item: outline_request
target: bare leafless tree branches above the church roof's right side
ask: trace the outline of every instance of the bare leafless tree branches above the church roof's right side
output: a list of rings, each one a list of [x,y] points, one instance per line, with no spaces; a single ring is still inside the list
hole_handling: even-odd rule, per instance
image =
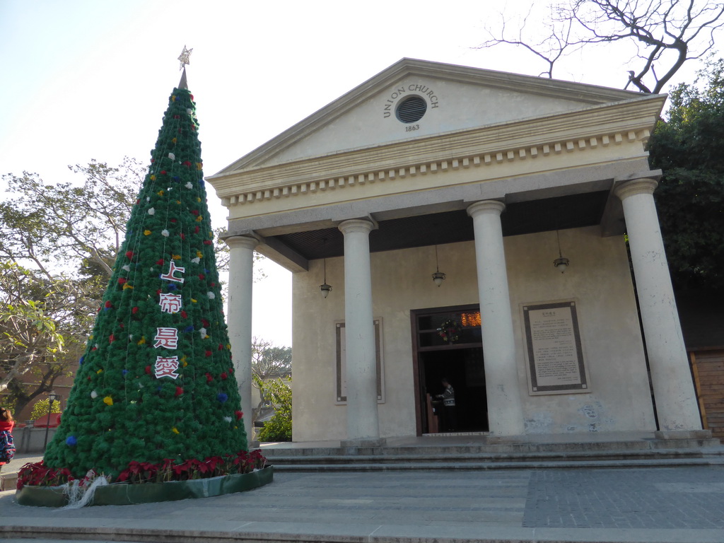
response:
[[[532,9],[532,7],[531,7]],[[724,3],[707,0],[568,0],[552,4],[543,39],[526,30],[529,11],[519,24],[502,17],[500,30],[476,49],[501,44],[530,51],[547,64],[552,77],[557,62],[588,46],[630,43],[636,54],[626,87],[660,93],[686,61],[702,58],[715,46],[715,31],[724,25]],[[510,26],[518,27],[511,35]],[[657,75],[656,67],[664,67]],[[646,81],[644,81],[646,80]]]

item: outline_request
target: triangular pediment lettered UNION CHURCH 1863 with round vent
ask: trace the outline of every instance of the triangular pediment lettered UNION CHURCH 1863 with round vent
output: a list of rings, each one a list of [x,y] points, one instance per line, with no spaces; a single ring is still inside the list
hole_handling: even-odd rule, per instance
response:
[[[542,119],[644,96],[595,85],[402,59],[219,174]],[[400,119],[399,109],[405,108],[405,101],[409,101],[409,117]],[[423,109],[419,119],[410,120]]]

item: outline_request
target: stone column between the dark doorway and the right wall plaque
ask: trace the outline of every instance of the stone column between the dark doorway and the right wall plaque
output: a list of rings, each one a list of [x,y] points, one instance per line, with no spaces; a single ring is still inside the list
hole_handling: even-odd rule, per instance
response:
[[[504,203],[487,200],[473,203],[468,215],[473,218],[475,232],[490,432],[515,436],[525,433],[525,425],[500,224],[504,209]]]

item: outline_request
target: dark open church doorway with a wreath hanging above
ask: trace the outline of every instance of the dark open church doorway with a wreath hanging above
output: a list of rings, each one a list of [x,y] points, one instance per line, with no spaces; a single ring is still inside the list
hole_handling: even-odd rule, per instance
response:
[[[435,396],[445,378],[455,390],[455,432],[486,432],[487,395],[479,306],[418,309],[413,320],[418,435],[449,430]]]

